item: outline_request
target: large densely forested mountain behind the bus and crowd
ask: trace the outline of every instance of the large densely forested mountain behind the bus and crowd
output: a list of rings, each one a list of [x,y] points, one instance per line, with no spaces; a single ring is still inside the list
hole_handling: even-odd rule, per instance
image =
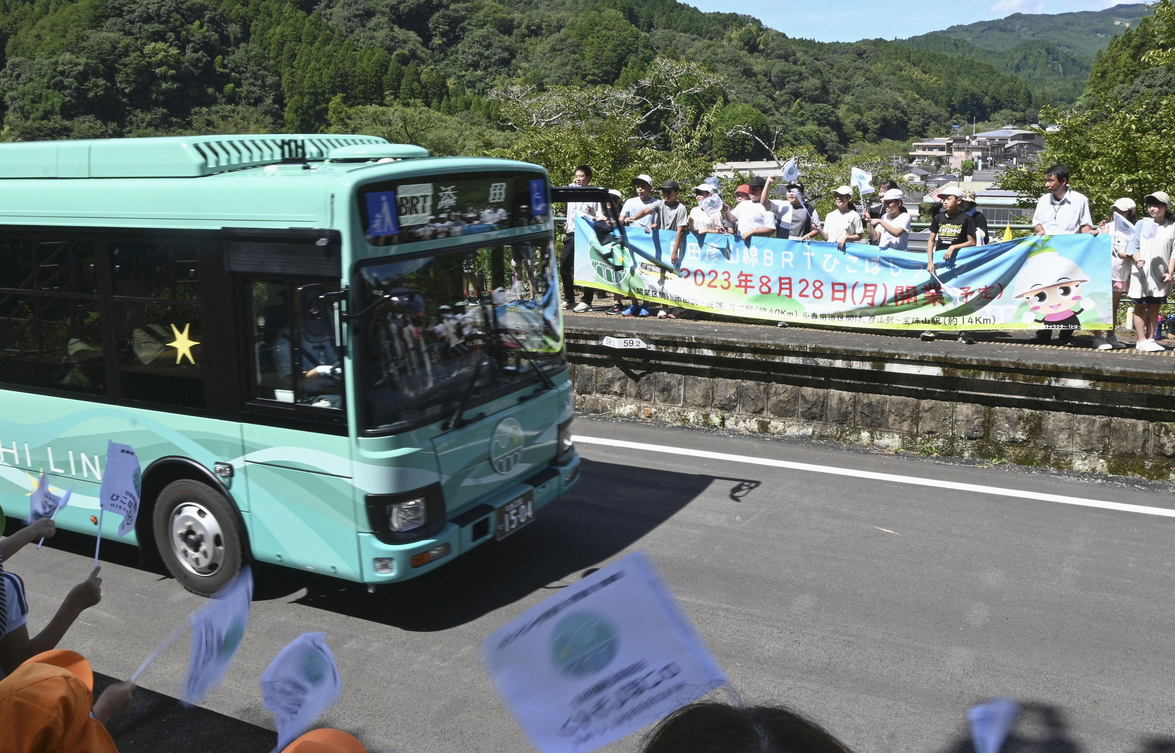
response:
[[[674,0],[0,0],[0,42],[7,140],[317,132],[387,106],[370,115],[408,139],[443,121],[452,149],[490,148],[510,137],[501,87],[612,98],[658,59],[721,76],[691,95],[699,113],[720,105],[716,123],[826,155],[1036,108],[986,63],[793,40]],[[764,150],[727,132],[713,156]]]

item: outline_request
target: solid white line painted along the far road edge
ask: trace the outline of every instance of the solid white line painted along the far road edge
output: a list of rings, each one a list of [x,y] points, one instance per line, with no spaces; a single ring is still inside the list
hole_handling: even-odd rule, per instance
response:
[[[726,452],[710,452],[709,450],[691,450],[690,448],[671,448],[662,444],[645,444],[644,442],[625,442],[623,439],[604,439],[602,437],[585,437],[575,435],[572,442],[580,444],[602,444],[610,448],[625,448],[629,450],[645,450],[647,452],[665,452],[667,455],[686,455],[690,457],[704,457],[712,460],[730,460],[732,463],[751,463],[752,465],[771,465],[772,468],[787,468],[794,471],[812,471],[813,473],[832,473],[833,476],[852,476],[854,478],[872,478],[880,482],[894,482],[895,484],[914,484],[916,486],[933,486],[934,489],[955,489],[958,491],[976,491],[981,495],[1000,495],[1001,497],[1019,497],[1021,499],[1040,499],[1042,502],[1058,502],[1062,505],[1080,505],[1082,507],[1101,507],[1102,510],[1120,510],[1122,512],[1140,512],[1142,515],[1157,515],[1167,518],[1175,518],[1175,510],[1167,507],[1149,507],[1147,505],[1128,505],[1121,502],[1102,502],[1101,499],[1085,499],[1082,497],[1066,497],[1065,495],[1046,495],[1039,491],[1023,491],[1020,489],[1002,489],[1000,486],[983,486],[982,484],[962,484],[959,482],[939,480],[936,478],[919,478],[918,476],[899,476],[898,473],[875,473],[873,471],[859,471],[852,468],[837,468],[834,465],[814,465],[812,463],[793,463],[791,460],[776,460],[773,458],[751,457],[748,455],[730,455]]]

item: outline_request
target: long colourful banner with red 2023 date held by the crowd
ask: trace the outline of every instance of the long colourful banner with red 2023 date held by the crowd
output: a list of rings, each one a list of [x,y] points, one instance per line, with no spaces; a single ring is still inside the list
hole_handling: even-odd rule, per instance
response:
[[[965,248],[951,261],[867,243],[805,242],[576,221],[577,285],[726,316],[872,329],[1112,329],[1109,235],[1053,235]]]

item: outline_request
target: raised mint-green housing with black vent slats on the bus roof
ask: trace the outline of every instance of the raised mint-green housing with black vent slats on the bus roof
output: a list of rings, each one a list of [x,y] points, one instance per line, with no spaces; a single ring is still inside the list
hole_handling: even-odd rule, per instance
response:
[[[295,157],[325,160],[342,147],[387,144],[378,136],[257,134],[163,136],[0,144],[4,177],[200,177]],[[416,148],[416,147],[402,147]]]

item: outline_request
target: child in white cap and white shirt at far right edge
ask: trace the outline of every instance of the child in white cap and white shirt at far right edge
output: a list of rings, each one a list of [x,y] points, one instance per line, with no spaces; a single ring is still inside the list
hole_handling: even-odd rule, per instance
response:
[[[1167,209],[1170,196],[1156,190],[1143,201],[1149,217],[1139,220],[1130,240],[1130,302],[1134,304],[1134,331],[1139,335],[1135,350],[1167,350],[1155,342],[1159,309],[1171,293],[1171,249],[1175,246],[1175,222]]]

